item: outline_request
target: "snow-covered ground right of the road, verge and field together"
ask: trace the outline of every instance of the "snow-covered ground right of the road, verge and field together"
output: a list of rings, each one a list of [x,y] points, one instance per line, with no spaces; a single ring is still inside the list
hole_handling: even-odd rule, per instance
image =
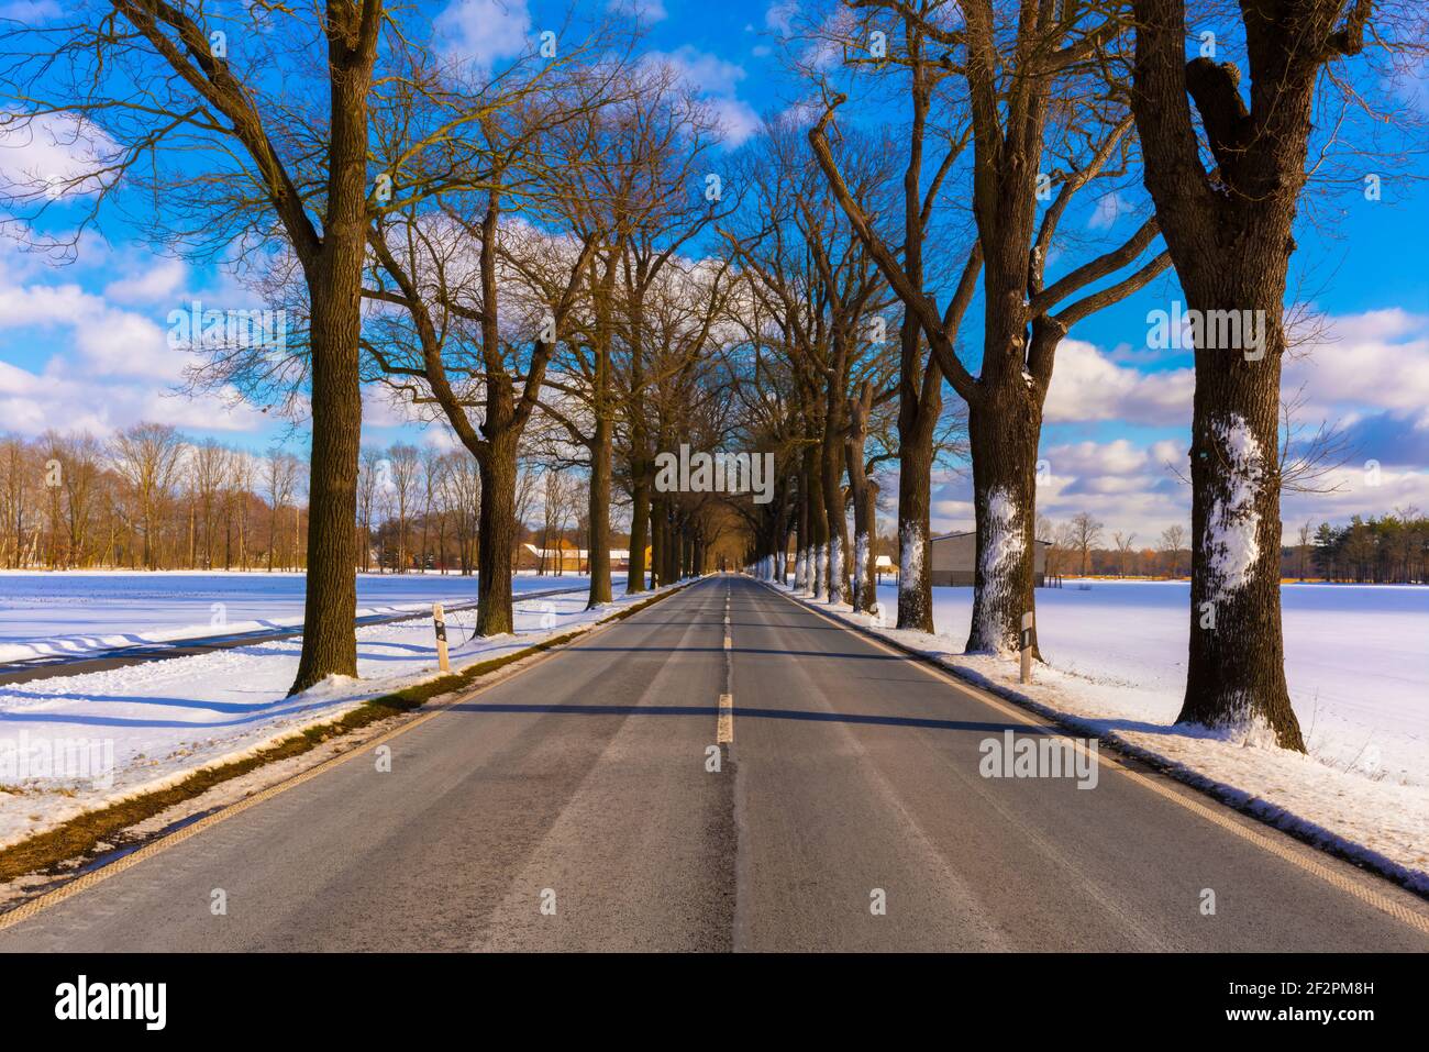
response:
[[[1049,666],[1029,686],[1015,658],[963,655],[970,587],[935,587],[937,635],[877,629],[963,675],[1180,765],[1259,813],[1429,890],[1429,587],[1286,585],[1285,668],[1309,756],[1175,726],[1189,640],[1186,582],[1037,589]],[[879,589],[895,609],[895,586]],[[826,607],[830,609],[830,607]],[[866,616],[832,607],[873,627]]]

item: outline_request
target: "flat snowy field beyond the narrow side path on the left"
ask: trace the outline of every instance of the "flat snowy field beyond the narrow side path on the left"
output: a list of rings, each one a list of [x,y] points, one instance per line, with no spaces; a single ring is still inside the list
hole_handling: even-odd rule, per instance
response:
[[[0,572],[0,662],[302,625],[304,580],[302,573]],[[512,590],[587,583],[570,573],[522,573]],[[474,599],[476,577],[357,575],[357,616]]]

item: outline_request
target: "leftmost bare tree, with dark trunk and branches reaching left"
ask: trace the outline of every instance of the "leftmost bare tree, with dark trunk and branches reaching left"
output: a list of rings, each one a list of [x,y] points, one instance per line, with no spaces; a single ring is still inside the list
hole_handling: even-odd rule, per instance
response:
[[[267,347],[244,349],[240,366],[220,353],[207,377],[226,384],[246,370],[259,386],[290,372],[294,360],[306,372],[310,565],[293,692],[357,672],[353,542],[369,110],[379,41],[392,26],[383,0],[237,10],[214,0],[111,0],[0,34],[6,124],[34,133],[64,114],[96,130],[87,170],[59,186],[37,180],[23,202],[43,210],[56,193],[97,190],[97,210],[116,187],[140,186],[161,197],[151,227],[177,250],[213,256],[236,243],[249,254],[277,234],[296,262],[306,292],[304,353],[277,367]],[[307,54],[314,37],[319,63]],[[293,41],[286,53],[283,40]],[[383,51],[387,59],[409,54],[400,44],[399,31]],[[316,84],[302,77],[309,69],[320,70]]]

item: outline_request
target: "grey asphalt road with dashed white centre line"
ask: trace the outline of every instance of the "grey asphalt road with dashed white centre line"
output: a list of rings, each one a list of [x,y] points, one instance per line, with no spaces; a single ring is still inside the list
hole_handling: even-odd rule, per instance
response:
[[[716,576],[0,949],[1429,949],[1419,899],[1160,776],[983,778],[1006,729],[1036,730]]]

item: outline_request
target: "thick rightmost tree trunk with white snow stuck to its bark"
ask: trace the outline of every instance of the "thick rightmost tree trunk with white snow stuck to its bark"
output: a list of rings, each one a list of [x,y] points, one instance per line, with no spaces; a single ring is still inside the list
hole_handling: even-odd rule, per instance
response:
[[[1190,653],[1182,720],[1253,730],[1305,750],[1280,635],[1280,364],[1292,227],[1306,179],[1320,67],[1358,54],[1373,4],[1246,7],[1242,71],[1186,61],[1180,0],[1136,0],[1132,106],[1146,189],[1190,310],[1232,312],[1240,340],[1196,346],[1192,405]],[[1250,106],[1246,107],[1249,97]],[[1200,162],[1195,100],[1216,162]],[[1259,342],[1245,326],[1259,326]],[[1222,329],[1222,333],[1235,329]],[[1240,346],[1236,346],[1240,344]]]

